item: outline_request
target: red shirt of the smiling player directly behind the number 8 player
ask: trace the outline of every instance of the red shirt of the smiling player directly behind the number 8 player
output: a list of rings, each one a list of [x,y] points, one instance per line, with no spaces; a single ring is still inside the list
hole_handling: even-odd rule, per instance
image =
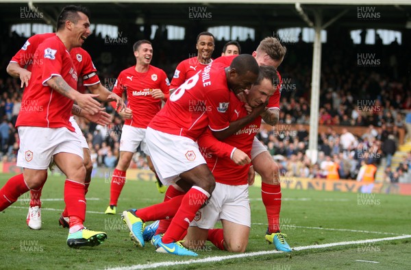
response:
[[[175,69],[173,79],[171,79],[170,89],[177,89],[184,84],[187,79],[204,69],[209,64],[201,64],[197,57],[188,58],[180,62]]]

